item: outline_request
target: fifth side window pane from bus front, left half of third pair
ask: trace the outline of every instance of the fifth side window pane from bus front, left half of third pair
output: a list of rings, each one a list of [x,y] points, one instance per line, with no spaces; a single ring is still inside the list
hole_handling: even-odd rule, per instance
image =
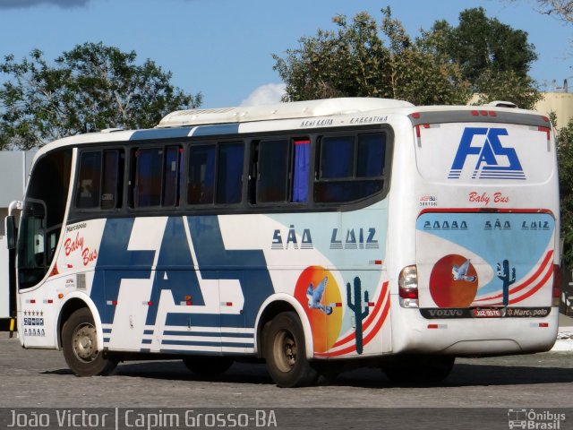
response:
[[[213,203],[215,195],[215,145],[189,147],[187,203]]]

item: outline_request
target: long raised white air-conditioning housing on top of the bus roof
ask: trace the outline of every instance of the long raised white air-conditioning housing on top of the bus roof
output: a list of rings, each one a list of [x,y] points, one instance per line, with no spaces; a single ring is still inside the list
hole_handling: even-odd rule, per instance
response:
[[[216,109],[177,110],[165,116],[156,128],[182,125],[245,123],[272,119],[310,118],[345,115],[376,109],[413,107],[394,99],[340,98],[293,101],[266,106],[222,107]]]

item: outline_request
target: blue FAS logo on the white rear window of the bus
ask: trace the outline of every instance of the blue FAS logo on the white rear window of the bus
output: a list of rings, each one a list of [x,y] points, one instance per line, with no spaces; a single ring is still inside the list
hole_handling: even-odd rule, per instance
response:
[[[472,179],[526,179],[516,150],[501,145],[500,136],[507,135],[505,128],[466,127],[448,178],[459,179],[467,164]]]

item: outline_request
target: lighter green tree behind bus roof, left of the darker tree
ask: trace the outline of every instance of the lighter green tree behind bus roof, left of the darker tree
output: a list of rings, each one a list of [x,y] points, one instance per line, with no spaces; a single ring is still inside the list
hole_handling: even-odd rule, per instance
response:
[[[470,97],[457,64],[423,52],[382,10],[381,39],[378,24],[368,13],[348,23],[333,19],[338,31],[318,30],[300,39],[301,47],[274,55],[288,101],[330,97],[381,97],[406,99],[415,104],[465,103]],[[387,42],[387,43],[385,43]],[[387,46],[388,45],[388,46]]]

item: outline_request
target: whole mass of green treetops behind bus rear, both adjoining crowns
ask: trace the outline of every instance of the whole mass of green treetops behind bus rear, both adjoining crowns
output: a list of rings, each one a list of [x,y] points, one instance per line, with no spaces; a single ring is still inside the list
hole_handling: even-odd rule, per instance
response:
[[[487,18],[482,8],[460,13],[458,27],[435,22],[415,40],[389,8],[381,12],[380,26],[365,12],[352,22],[338,15],[337,30],[318,30],[285,57],[274,55],[285,100],[381,97],[416,105],[466,104],[478,91],[482,102],[507,99],[533,107],[539,98],[527,76],[536,55],[526,32]]]

